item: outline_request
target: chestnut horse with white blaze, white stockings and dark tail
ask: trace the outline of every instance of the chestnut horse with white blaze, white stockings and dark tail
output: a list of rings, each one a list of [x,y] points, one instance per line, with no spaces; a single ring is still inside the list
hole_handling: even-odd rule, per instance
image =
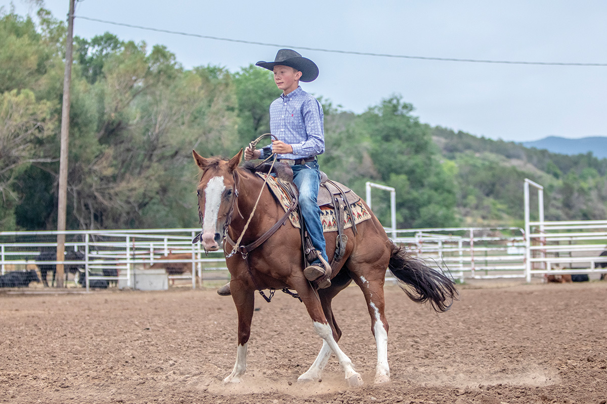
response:
[[[263,179],[251,168],[239,167],[242,150],[229,161],[217,157],[205,159],[192,151],[198,167],[203,170],[197,187],[198,214],[202,222],[201,242],[208,251],[217,251],[225,238],[239,239],[243,230],[242,245],[259,239],[285,214],[283,208],[265,187]],[[257,198],[259,208],[254,211]],[[368,210],[368,206],[365,205]],[[370,210],[369,210],[370,212]],[[247,221],[250,223],[245,228]],[[356,235],[351,228],[345,256],[334,268],[331,286],[316,291],[304,277],[304,257],[300,230],[287,220],[284,225],[246,256],[229,254],[232,246],[223,244],[226,265],[231,274],[230,290],[238,313],[238,349],[234,370],[224,382],[237,383],[246,370],[246,348],[251,333],[256,291],[288,288],[295,290],[312,319],[314,330],[322,338],[322,348],[307,372],[299,376],[299,382],[319,380],[331,353],[334,353],[345,373],[347,383],[362,385],[351,360],[339,348],[337,341],[341,330],[333,316],[331,300],[354,281],[367,300],[371,316],[371,332],[377,345],[375,383],[388,382],[387,337],[388,322],[384,314],[384,278],[387,268],[402,283],[415,302],[432,303],[436,311],[449,309],[457,291],[447,276],[427,267],[421,260],[413,259],[388,239],[379,220],[371,213],[371,219],[356,225]],[[337,233],[325,233],[327,254],[333,256]]]

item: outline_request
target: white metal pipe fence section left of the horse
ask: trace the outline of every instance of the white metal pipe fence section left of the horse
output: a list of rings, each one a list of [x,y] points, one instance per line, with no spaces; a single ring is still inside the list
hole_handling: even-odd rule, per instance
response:
[[[226,270],[223,253],[206,256],[200,243],[192,244],[197,229],[65,231],[66,251],[79,251],[81,260],[64,260],[86,271],[87,290],[91,280],[115,280],[132,287],[131,272],[154,263],[190,263],[189,273],[170,275],[169,279],[191,279],[195,288],[197,274],[203,270]],[[56,251],[56,231],[0,232],[0,268],[22,270],[32,265],[56,265],[56,260],[41,260],[43,251]],[[187,259],[163,259],[172,254],[189,254]],[[38,258],[38,259],[37,259]]]

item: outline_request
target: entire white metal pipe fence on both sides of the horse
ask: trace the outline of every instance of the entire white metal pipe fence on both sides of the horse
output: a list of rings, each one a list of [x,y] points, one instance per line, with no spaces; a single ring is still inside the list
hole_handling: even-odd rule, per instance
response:
[[[387,229],[393,240],[407,246],[414,256],[430,266],[466,279],[524,278],[562,273],[606,273],[599,268],[599,254],[607,247],[607,220],[592,222],[530,222],[529,239],[517,227]],[[81,260],[64,260],[80,266],[90,280],[118,280],[132,287],[131,272],[152,265],[175,267],[183,273],[169,279],[191,280],[220,271],[213,279],[228,279],[223,252],[206,256],[200,243],[191,240],[198,229],[66,231],[66,251],[83,254]],[[1,272],[23,270],[33,264],[55,265],[56,260],[40,259],[42,251],[55,251],[56,231],[0,232]],[[527,247],[528,245],[528,247]],[[179,258],[168,254],[188,254]],[[527,259],[529,254],[529,259]],[[115,271],[115,276],[108,275]],[[209,278],[209,276],[206,276]]]

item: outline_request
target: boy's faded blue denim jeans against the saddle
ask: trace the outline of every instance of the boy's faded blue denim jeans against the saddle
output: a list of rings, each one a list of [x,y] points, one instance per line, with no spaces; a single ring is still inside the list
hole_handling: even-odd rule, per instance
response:
[[[325,237],[322,235],[322,224],[320,223],[320,208],[316,204],[318,189],[320,187],[320,171],[318,162],[313,161],[306,164],[296,164],[293,168],[293,182],[299,189],[299,209],[302,213],[305,228],[312,240],[312,245],[320,252],[322,257],[327,258]],[[314,263],[319,263],[317,259]]]

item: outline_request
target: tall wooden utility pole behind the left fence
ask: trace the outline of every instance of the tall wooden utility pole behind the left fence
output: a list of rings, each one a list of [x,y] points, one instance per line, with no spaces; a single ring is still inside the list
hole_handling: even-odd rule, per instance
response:
[[[63,107],[61,108],[61,152],[59,154],[59,207],[57,211],[57,287],[63,288],[63,258],[66,251],[67,157],[70,130],[70,83],[72,82],[72,45],[74,29],[74,1],[70,1],[67,15],[66,70],[63,75]]]

